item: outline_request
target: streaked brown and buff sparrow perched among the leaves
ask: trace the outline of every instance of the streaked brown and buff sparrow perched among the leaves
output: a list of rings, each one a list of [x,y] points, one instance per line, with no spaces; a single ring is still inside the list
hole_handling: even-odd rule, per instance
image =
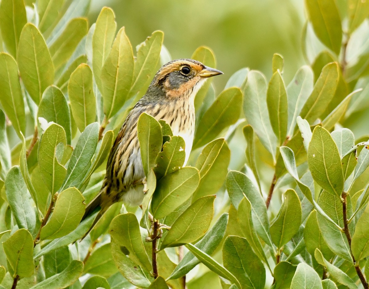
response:
[[[223,72],[186,58],[170,61],[159,69],[145,95],[128,113],[111,148],[101,189],[86,206],[82,218],[83,221],[100,209],[90,229],[115,202],[123,201],[130,205],[142,203],[146,179],[137,136],[137,122],[141,113],[147,113],[156,120],[165,120],[173,135],[183,137],[185,166],[194,137],[196,93],[209,77],[219,74]]]

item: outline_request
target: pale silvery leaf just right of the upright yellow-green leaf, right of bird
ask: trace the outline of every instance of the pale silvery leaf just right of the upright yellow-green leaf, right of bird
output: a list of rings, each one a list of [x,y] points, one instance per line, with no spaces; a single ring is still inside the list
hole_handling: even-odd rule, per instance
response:
[[[293,135],[296,126],[296,118],[300,115],[301,109],[313,91],[313,71],[307,65],[301,67],[294,78],[287,85],[288,102],[288,134]]]

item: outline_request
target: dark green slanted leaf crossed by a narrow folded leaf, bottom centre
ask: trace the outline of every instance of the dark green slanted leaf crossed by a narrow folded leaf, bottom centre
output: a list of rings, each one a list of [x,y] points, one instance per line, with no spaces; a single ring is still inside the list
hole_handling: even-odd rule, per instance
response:
[[[194,246],[208,255],[213,254],[224,237],[227,224],[228,214],[224,213],[213,225],[213,228],[211,228],[199,242],[194,244]],[[199,259],[197,259],[191,252],[187,252],[183,259],[178,263],[174,271],[170,274],[168,279],[177,279],[186,275],[199,263]]]

